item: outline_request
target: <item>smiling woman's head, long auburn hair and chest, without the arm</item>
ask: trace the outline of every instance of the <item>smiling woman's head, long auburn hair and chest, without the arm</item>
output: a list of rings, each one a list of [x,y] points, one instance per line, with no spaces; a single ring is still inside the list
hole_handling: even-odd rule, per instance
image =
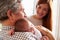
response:
[[[36,5],[36,14],[28,18],[35,26],[42,25],[52,31],[51,8],[47,0],[40,0]]]

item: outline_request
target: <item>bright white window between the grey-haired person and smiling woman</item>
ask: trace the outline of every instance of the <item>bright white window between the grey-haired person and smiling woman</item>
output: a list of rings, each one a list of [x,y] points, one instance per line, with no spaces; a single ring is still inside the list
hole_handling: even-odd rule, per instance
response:
[[[27,16],[31,16],[34,11],[34,2],[35,0],[22,0],[24,11]]]

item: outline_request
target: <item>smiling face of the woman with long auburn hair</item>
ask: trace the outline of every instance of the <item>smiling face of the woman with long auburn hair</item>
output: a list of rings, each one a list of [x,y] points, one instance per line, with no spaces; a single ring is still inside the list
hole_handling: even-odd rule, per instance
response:
[[[48,12],[48,4],[37,5],[37,17],[42,19]]]

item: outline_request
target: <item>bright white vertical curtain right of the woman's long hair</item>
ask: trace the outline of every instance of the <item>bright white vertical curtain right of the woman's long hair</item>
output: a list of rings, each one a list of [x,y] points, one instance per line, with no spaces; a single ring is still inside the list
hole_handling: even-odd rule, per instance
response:
[[[59,40],[59,3],[58,0],[53,0],[52,5],[52,26],[53,26],[53,35],[55,36],[55,40]]]

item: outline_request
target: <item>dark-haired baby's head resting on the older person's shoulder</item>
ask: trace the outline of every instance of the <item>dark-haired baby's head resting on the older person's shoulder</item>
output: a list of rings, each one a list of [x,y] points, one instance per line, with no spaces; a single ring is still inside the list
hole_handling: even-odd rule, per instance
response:
[[[19,19],[15,23],[16,32],[30,32],[31,27],[26,19]]]

